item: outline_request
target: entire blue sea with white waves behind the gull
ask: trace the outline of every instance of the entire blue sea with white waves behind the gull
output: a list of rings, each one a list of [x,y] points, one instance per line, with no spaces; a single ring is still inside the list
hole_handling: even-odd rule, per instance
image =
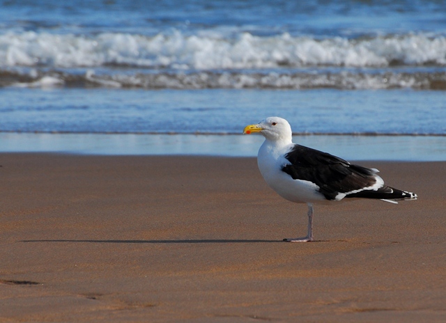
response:
[[[445,13],[434,0],[0,0],[0,151],[255,155],[238,134],[276,115],[354,159],[446,160]]]

